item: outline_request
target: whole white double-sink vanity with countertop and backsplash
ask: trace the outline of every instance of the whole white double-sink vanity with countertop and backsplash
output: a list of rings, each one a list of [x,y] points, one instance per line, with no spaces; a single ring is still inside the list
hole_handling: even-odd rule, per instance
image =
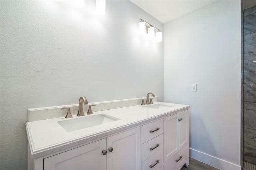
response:
[[[180,170],[188,166],[188,105],[145,98],[28,110],[29,170]],[[70,118],[66,110],[70,108]],[[89,109],[91,111],[89,112]],[[86,113],[86,112],[84,112]],[[93,113],[93,114],[92,114]]]

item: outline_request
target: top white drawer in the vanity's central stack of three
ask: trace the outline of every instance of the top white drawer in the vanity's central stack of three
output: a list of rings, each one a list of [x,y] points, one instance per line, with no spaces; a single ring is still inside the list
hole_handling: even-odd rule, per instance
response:
[[[162,134],[164,132],[163,119],[142,126],[142,143]]]

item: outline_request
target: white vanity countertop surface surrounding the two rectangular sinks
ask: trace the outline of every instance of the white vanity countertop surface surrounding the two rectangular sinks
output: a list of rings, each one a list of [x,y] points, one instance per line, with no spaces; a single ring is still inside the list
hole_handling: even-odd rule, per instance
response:
[[[106,123],[103,125],[75,130],[72,132],[67,132],[57,122],[69,119],[80,119],[81,117],[73,115],[73,118],[69,119],[61,117],[42,121],[28,122],[26,123],[26,128],[32,158],[37,158],[39,156],[44,156],[46,154],[57,152],[64,148],[74,146],[74,142],[81,141],[82,139],[88,139],[93,136],[95,138],[95,136],[98,134],[103,134],[105,132],[110,132],[111,130],[134,125],[136,123],[141,123],[146,120],[150,121],[149,119],[152,119],[154,117],[165,115],[166,113],[176,113],[179,110],[185,110],[189,108],[188,105],[162,102],[156,102],[153,105],[156,104],[170,105],[172,107],[152,109],[145,107],[148,105],[135,105],[118,109],[98,111],[95,112],[93,115],[105,114],[116,117],[120,120]],[[85,116],[82,117],[89,117],[93,115],[85,114]]]

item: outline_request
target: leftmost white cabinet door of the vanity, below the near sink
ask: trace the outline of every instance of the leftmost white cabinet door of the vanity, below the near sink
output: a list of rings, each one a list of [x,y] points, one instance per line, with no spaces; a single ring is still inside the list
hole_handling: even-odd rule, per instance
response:
[[[106,170],[106,138],[44,159],[44,170]]]

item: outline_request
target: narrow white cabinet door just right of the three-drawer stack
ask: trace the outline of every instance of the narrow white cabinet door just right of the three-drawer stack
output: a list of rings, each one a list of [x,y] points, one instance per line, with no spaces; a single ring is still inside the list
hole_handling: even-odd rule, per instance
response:
[[[164,118],[164,161],[168,160],[179,151],[179,114]]]

